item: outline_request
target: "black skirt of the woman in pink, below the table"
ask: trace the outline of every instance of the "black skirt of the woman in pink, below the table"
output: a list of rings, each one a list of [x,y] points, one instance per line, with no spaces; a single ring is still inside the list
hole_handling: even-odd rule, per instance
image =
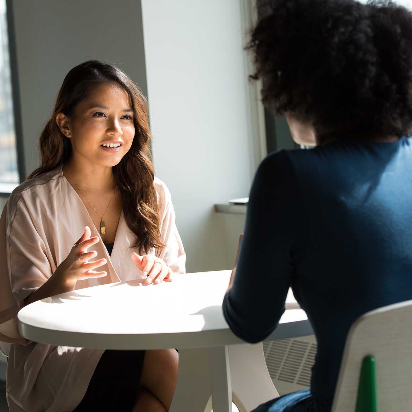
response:
[[[130,412],[136,402],[145,351],[104,351],[73,412]]]

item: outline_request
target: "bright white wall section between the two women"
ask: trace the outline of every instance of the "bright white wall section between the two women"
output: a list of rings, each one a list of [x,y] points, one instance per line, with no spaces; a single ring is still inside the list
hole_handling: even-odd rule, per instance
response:
[[[172,194],[187,271],[228,269],[227,219],[215,203],[247,196],[254,173],[238,0],[142,0],[157,176]]]

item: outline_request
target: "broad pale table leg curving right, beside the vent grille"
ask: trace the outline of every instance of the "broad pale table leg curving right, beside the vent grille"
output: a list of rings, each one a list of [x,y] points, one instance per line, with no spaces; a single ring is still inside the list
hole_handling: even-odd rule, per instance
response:
[[[233,400],[240,412],[279,397],[267,370],[262,343],[230,345],[228,351]]]

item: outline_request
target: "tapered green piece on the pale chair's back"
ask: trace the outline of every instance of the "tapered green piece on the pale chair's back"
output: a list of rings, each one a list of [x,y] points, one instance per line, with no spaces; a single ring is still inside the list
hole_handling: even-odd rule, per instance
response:
[[[356,412],[377,412],[375,358],[365,356],[359,377]]]

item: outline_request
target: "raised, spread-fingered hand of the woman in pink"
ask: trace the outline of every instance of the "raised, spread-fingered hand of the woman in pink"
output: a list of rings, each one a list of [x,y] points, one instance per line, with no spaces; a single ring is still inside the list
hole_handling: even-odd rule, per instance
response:
[[[91,231],[89,226],[84,228],[84,234],[75,243],[67,258],[61,262],[61,276],[68,283],[75,283],[77,280],[102,278],[107,275],[107,272],[95,272],[93,269],[103,266],[107,263],[105,258],[89,262],[97,256],[97,252],[87,249],[97,243],[100,238],[98,236],[90,237]]]

